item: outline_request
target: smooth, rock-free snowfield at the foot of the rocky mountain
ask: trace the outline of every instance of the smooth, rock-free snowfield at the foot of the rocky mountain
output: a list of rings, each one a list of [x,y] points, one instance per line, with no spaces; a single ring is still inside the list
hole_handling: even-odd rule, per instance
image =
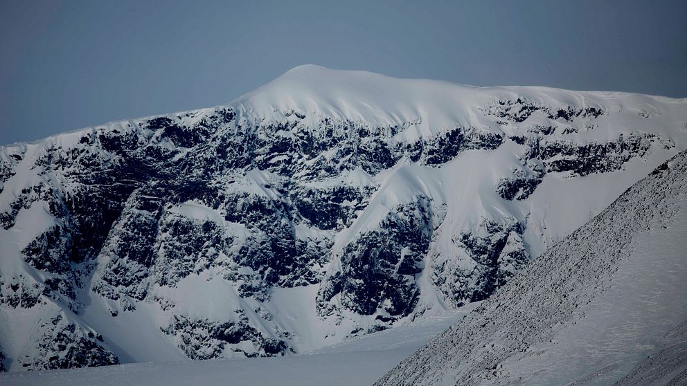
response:
[[[28,371],[0,374],[0,385],[370,385],[463,318],[471,306],[303,355]]]

